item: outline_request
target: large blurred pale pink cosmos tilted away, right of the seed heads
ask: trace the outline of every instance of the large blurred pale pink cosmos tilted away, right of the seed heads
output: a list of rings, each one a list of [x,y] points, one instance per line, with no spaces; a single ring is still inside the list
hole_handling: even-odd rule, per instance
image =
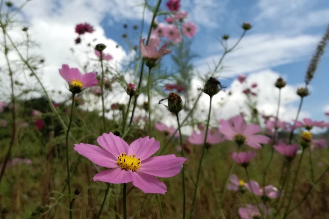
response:
[[[231,119],[232,122],[221,119],[219,121],[221,132],[227,140],[235,141],[238,145],[246,144],[252,148],[259,149],[261,143],[267,143],[268,137],[260,134],[261,129],[256,124],[245,125],[242,116],[236,116]]]

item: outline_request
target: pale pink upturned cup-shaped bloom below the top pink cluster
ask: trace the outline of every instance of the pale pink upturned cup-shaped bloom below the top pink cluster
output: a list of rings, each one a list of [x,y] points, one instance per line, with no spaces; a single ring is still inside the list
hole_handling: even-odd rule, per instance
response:
[[[163,57],[164,55],[171,52],[171,50],[167,49],[168,42],[165,42],[164,45],[158,51],[158,45],[156,39],[150,38],[150,42],[147,46],[144,44],[144,40],[145,39],[140,39],[139,46],[140,46],[140,51],[145,59],[156,61],[161,59],[161,57]]]

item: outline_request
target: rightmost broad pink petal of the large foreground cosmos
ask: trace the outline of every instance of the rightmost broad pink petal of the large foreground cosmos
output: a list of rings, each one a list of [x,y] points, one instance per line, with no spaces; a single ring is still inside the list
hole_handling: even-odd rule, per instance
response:
[[[151,157],[142,161],[139,171],[158,177],[172,177],[181,171],[185,160],[173,154]]]

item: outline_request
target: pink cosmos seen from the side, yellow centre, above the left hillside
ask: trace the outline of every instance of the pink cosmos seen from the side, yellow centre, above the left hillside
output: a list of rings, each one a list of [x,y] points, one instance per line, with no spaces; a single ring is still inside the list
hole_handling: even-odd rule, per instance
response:
[[[70,68],[67,64],[63,64],[59,72],[64,80],[73,87],[86,88],[97,85],[96,74],[93,72],[81,75],[79,69]]]

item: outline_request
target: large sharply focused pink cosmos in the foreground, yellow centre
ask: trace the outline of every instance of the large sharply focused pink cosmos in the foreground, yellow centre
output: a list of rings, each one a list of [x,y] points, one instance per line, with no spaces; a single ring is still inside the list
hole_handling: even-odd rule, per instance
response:
[[[139,138],[130,146],[122,138],[104,133],[97,138],[101,147],[91,144],[75,144],[74,150],[95,164],[107,168],[97,173],[94,181],[109,183],[132,182],[144,193],[166,192],[166,186],[157,177],[172,177],[181,171],[185,158],[175,155],[151,157],[160,148],[160,142]]]

